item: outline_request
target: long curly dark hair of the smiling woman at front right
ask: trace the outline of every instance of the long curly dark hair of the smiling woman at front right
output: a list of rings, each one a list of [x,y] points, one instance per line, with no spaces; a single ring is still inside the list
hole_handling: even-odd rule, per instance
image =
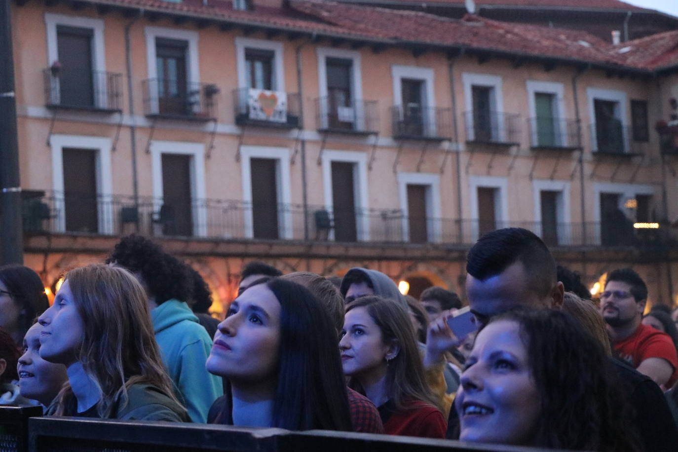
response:
[[[631,411],[602,344],[569,314],[517,308],[490,321],[520,325],[541,399],[535,443],[573,451],[637,452]]]

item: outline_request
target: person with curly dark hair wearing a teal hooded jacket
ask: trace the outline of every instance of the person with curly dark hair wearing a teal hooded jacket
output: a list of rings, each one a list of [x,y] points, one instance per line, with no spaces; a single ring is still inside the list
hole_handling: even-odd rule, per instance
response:
[[[212,338],[183,301],[191,299],[186,264],[136,235],[115,245],[106,262],[127,268],[146,290],[155,340],[175,394],[191,420],[204,424],[212,403],[224,391],[220,377],[205,369]]]

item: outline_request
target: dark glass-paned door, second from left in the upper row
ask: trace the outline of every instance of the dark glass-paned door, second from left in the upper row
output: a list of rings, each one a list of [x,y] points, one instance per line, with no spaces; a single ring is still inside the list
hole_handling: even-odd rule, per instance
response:
[[[187,45],[185,41],[175,39],[157,38],[155,41],[155,62],[158,75],[157,96],[161,115],[188,114]]]

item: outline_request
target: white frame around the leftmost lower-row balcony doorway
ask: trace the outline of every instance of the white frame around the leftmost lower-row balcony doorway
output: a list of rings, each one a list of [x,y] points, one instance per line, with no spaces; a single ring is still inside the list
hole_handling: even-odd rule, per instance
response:
[[[52,148],[52,189],[56,195],[56,230],[66,232],[66,203],[64,194],[64,148],[92,150],[95,157],[97,215],[100,234],[113,234],[113,178],[111,171],[111,138],[60,135],[49,137]],[[104,221],[108,220],[108,222]]]

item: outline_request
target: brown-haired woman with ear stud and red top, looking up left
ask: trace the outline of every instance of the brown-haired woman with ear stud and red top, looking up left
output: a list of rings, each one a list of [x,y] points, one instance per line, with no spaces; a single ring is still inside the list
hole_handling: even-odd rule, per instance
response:
[[[445,437],[447,422],[426,385],[404,308],[376,296],[351,302],[339,348],[348,386],[377,406],[386,434]]]

